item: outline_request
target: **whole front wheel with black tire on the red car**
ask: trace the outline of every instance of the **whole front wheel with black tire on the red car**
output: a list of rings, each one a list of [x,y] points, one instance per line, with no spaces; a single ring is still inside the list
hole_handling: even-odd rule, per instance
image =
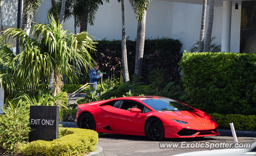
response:
[[[145,135],[150,140],[161,141],[164,139],[164,125],[158,118],[150,118],[145,124]]]

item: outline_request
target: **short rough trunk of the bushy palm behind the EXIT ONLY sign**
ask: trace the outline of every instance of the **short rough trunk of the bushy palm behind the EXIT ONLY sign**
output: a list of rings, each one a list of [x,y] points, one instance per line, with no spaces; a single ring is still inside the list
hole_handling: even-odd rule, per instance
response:
[[[61,81],[62,75],[60,74],[60,69],[54,69],[54,96],[61,92],[63,82]],[[57,100],[57,106],[60,106],[60,100]]]

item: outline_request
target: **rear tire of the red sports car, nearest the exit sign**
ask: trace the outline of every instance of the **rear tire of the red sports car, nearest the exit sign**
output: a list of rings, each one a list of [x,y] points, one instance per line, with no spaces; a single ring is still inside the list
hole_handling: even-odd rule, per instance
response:
[[[90,113],[84,113],[79,117],[78,128],[96,130],[94,117]]]

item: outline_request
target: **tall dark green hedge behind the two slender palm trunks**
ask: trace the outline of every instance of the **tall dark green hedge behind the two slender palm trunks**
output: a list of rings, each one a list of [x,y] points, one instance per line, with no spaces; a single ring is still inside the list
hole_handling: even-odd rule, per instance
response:
[[[97,41],[97,51],[105,51],[102,47],[108,47],[110,51],[115,51],[116,57],[122,58],[122,41],[121,40],[108,40],[102,39]],[[154,71],[157,67],[166,68],[166,74],[170,77],[177,77],[177,72],[175,71],[175,65],[180,61],[180,48],[182,43],[178,39],[171,38],[147,38],[145,39],[144,44],[144,54],[142,61],[142,81],[145,84],[148,84],[148,73],[150,71]],[[130,78],[134,74],[134,65],[135,65],[135,49],[136,49],[136,41],[132,41],[130,39],[126,40],[126,48],[127,48],[127,59],[128,59],[128,70],[130,73]],[[101,60],[96,57],[96,55],[92,55],[95,61],[99,63]],[[178,60],[177,60],[178,59]],[[175,72],[174,72],[175,71]],[[103,71],[106,72],[106,71]],[[170,75],[171,73],[171,75]],[[174,74],[173,74],[174,73]],[[115,73],[117,77],[120,73]],[[179,77],[178,77],[179,78]]]

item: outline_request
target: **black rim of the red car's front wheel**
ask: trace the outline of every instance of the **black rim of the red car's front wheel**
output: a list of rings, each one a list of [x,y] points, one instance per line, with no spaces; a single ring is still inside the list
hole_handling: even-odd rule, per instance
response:
[[[162,125],[158,120],[150,120],[146,127],[148,137],[152,140],[157,140],[162,135]]]

